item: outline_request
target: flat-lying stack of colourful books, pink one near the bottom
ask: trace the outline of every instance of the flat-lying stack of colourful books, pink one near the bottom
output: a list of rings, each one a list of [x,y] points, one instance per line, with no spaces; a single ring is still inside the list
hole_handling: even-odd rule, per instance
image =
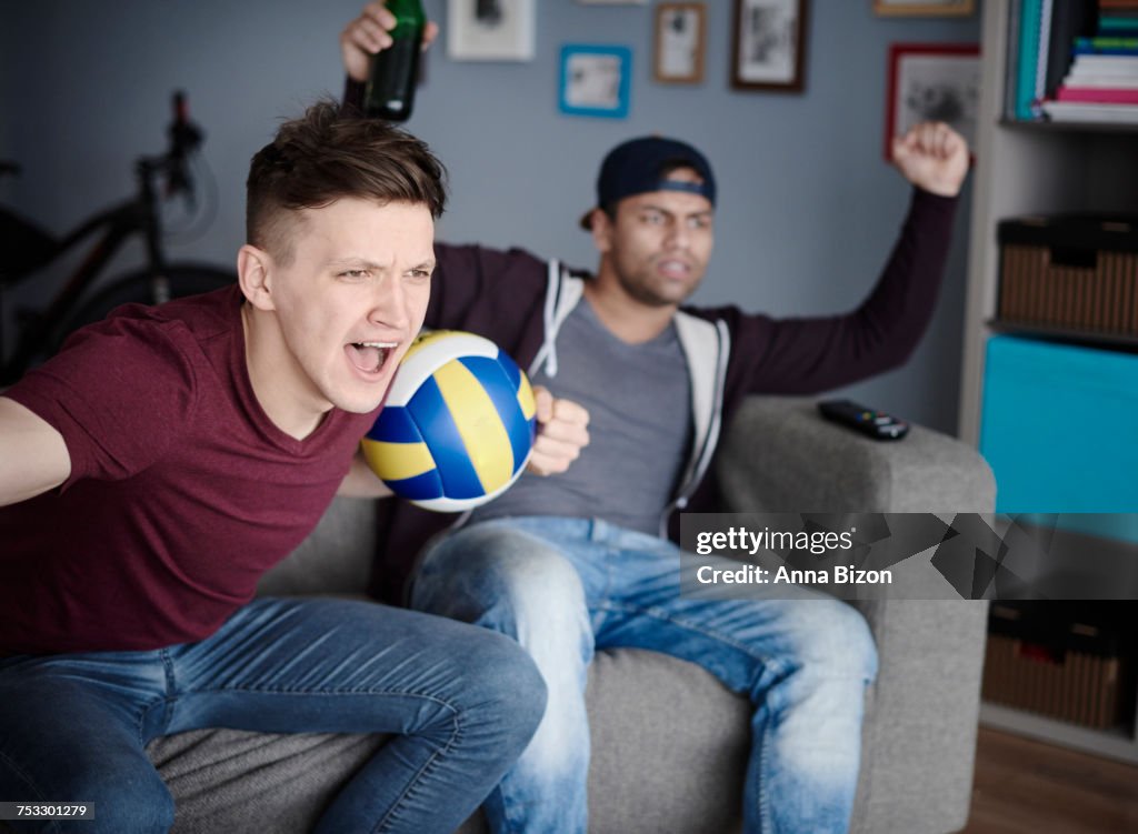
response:
[[[1098,31],[1074,39],[1074,60],[1042,102],[1054,122],[1138,124],[1138,0],[1099,0]]]

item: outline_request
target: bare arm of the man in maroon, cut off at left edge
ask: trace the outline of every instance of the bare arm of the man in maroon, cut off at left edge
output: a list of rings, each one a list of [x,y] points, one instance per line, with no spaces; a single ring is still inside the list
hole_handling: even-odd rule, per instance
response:
[[[71,474],[63,435],[8,397],[0,397],[0,506],[53,489]]]

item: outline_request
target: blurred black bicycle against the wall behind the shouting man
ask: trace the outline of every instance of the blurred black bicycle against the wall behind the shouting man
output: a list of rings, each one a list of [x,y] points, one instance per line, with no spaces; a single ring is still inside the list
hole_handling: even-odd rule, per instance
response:
[[[80,240],[101,231],[86,257],[46,309],[17,312],[14,349],[10,357],[0,357],[0,387],[11,385],[34,363],[55,354],[72,331],[100,321],[119,305],[131,302],[162,304],[171,298],[208,292],[237,280],[231,272],[207,264],[166,262],[159,199],[181,195],[193,201],[195,183],[189,162],[204,138],[201,130],[189,119],[183,93],[174,93],[173,109],[166,152],[142,156],[134,163],[135,195],[96,214],[66,237],[56,238],[0,206],[0,305],[5,290],[31,278]],[[18,172],[19,166],[0,162],[0,174]],[[141,234],[146,243],[146,265],[92,292],[90,288],[107,263],[135,234]],[[3,321],[0,306],[0,327]],[[0,331],[0,350],[3,345]]]

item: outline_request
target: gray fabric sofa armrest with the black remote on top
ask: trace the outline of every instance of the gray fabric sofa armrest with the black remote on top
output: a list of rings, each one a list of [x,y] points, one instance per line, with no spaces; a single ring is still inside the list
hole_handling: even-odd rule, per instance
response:
[[[751,397],[718,473],[732,512],[990,513],[996,484],[964,443],[920,426],[879,441],[820,418],[814,401]],[[852,831],[962,828],[971,802],[988,605],[856,601],[877,645]]]

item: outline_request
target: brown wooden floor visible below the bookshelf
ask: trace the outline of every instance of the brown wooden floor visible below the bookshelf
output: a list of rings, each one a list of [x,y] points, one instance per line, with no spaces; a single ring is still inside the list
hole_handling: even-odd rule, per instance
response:
[[[981,727],[964,832],[1138,832],[1138,766]]]

